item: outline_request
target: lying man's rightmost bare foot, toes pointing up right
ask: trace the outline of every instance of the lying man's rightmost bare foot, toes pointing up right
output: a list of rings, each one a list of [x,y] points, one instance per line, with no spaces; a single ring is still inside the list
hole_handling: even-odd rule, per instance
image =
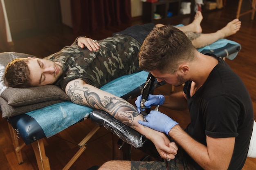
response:
[[[226,38],[230,35],[235,34],[237,31],[239,31],[241,27],[241,21],[239,21],[237,18],[230,21],[225,27],[219,30],[220,33],[222,33],[222,38]]]

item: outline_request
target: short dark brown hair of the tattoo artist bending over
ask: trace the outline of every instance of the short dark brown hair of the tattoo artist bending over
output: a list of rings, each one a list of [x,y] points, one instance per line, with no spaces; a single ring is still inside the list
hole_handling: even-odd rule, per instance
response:
[[[195,58],[195,47],[186,35],[171,25],[155,27],[139,52],[139,66],[145,71],[176,73],[183,62]]]

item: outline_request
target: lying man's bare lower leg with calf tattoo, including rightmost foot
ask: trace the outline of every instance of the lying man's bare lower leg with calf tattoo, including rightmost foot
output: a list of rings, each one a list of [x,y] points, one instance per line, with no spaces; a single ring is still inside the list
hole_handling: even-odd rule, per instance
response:
[[[234,19],[229,22],[225,27],[216,31],[215,33],[199,34],[193,32],[185,32],[185,34],[189,38],[189,40],[191,40],[195,48],[200,49],[204,46],[218,41],[221,38],[226,38],[230,35],[235,34],[237,31],[239,31],[240,27],[241,22],[238,19]]]

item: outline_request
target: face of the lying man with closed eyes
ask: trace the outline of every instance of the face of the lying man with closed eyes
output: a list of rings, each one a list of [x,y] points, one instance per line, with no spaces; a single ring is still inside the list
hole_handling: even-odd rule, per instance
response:
[[[29,58],[28,67],[32,86],[53,84],[62,75],[63,69],[58,62],[51,60]]]

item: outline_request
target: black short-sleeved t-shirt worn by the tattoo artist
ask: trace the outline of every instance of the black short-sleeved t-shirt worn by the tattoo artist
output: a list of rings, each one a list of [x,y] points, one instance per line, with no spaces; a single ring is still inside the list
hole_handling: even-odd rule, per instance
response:
[[[214,56],[216,57],[216,56]],[[254,112],[251,97],[236,73],[220,57],[206,82],[191,97],[191,81],[184,85],[191,123],[186,132],[201,144],[209,137],[236,137],[229,170],[245,163],[252,135]],[[198,170],[202,169],[191,159]]]

